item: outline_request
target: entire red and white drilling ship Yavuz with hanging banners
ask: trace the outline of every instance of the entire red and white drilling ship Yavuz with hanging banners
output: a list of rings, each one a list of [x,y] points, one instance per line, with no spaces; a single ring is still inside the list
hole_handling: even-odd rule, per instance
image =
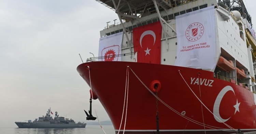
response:
[[[256,43],[243,0],[96,0],[117,13],[77,67],[116,134],[256,131]],[[248,4],[250,4],[247,1]]]

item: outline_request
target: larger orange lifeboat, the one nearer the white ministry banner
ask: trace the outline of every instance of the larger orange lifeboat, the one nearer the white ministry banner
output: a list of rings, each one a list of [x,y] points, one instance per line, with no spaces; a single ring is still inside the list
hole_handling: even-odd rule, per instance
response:
[[[227,72],[235,70],[233,62],[231,60],[226,60],[222,56],[219,56],[217,66]]]

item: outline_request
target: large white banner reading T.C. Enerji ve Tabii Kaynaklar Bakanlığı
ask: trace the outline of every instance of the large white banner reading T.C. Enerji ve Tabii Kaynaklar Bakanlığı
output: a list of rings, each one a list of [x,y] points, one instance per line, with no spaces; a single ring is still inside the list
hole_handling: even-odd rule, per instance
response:
[[[216,66],[214,6],[176,16],[175,66],[213,69]]]

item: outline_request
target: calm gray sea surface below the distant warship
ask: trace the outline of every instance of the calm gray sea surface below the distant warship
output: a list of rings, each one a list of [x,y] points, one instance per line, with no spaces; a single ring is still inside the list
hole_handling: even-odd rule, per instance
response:
[[[115,134],[113,125],[103,125],[106,134]],[[0,134],[104,134],[99,125],[85,128],[17,128],[0,127]]]

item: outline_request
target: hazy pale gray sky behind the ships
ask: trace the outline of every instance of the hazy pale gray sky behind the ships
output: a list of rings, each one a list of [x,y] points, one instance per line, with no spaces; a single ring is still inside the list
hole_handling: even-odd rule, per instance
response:
[[[256,24],[255,1],[248,3]],[[86,121],[89,86],[76,67],[98,55],[114,11],[95,0],[0,0],[0,126],[53,113]],[[98,100],[100,121],[109,120]],[[93,110],[93,115],[95,112]]]

